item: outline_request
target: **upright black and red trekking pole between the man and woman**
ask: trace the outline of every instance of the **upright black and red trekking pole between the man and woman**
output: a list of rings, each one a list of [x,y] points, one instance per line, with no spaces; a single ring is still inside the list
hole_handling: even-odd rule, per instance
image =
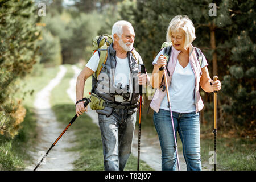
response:
[[[141,64],[141,74],[146,73],[145,64]],[[139,156],[141,153],[141,107],[142,107],[142,85],[139,85],[139,134],[138,134],[138,162],[137,171],[139,171]]]

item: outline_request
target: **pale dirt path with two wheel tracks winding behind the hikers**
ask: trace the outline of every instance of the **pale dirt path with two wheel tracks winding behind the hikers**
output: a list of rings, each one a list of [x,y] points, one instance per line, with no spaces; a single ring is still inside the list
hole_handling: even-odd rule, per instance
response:
[[[75,65],[72,66],[74,71],[73,78],[69,81],[69,88],[67,89],[67,93],[69,98],[76,102],[76,80],[79,75],[81,69],[77,68]],[[32,170],[42,159],[43,153],[46,152],[51,144],[55,141],[57,137],[59,137],[60,133],[63,131],[65,126],[60,126],[60,123],[57,122],[53,111],[51,110],[51,106],[49,104],[49,96],[51,90],[59,84],[61,78],[65,75],[66,68],[64,66],[60,66],[60,72],[49,82],[49,84],[41,90],[35,100],[35,108],[36,114],[38,116],[38,126],[40,128],[40,139],[38,145],[34,148],[34,152],[31,152],[34,158],[34,164],[28,166],[27,170]],[[98,115],[95,110],[90,109],[88,107],[89,117],[92,118],[92,121],[98,125]],[[72,147],[71,144],[72,137],[75,137],[72,131],[68,131],[63,135],[63,137],[59,140],[61,144],[54,147],[54,149],[47,155],[45,159],[45,164],[42,163],[38,170],[72,170],[72,162],[78,157],[78,155],[74,155],[73,153],[65,152],[65,148]],[[133,155],[137,156],[137,148],[138,148],[138,131],[135,130],[134,140],[133,140]],[[158,137],[148,137],[146,133],[142,132],[141,135],[141,160],[146,162],[152,169],[156,171],[161,170],[161,151]],[[187,170],[185,160],[183,158],[182,151],[179,151],[179,159],[180,159],[180,168],[182,171]],[[209,170],[210,166],[206,168]]]

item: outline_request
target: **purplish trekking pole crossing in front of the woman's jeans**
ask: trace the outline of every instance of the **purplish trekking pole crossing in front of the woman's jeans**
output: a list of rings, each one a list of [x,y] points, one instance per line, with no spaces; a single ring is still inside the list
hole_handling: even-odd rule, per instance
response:
[[[168,83],[167,83],[167,76],[166,76],[166,67],[163,66],[161,68],[164,72],[164,84],[166,85],[166,94],[167,94],[167,100],[168,100],[168,107],[170,110],[170,114],[171,114],[171,120],[172,120],[172,133],[174,133],[174,148],[175,148],[175,152],[176,152],[176,156],[177,156],[177,167],[180,171],[180,162],[179,162],[179,154],[177,151],[177,141],[176,141],[176,136],[175,136],[175,129],[174,129],[174,119],[172,118],[172,109],[171,109],[171,101],[170,101],[170,96],[169,96],[169,90],[168,90]]]

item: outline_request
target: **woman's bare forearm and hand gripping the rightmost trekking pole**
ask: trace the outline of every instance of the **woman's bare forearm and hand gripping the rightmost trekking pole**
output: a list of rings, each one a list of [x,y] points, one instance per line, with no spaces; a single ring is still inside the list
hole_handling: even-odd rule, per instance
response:
[[[200,79],[201,88],[205,92],[219,91],[221,89],[220,80],[213,81],[212,78],[210,78],[207,67],[204,67],[201,70],[202,70],[202,75]],[[212,83],[212,85],[210,85],[210,83]]]

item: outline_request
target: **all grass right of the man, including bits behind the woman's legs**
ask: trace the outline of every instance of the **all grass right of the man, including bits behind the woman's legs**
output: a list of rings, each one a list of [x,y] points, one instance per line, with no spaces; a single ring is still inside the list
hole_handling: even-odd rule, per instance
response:
[[[157,137],[152,119],[152,109],[147,114],[148,103],[142,113],[142,127],[148,133],[148,137]],[[208,168],[213,164],[210,151],[214,151],[213,126],[201,124],[201,162],[202,167]],[[178,135],[179,136],[179,135]],[[177,137],[179,153],[182,154],[182,143]],[[256,143],[253,138],[241,138],[238,135],[227,134],[227,131],[218,129],[217,131],[217,170],[225,171],[255,171],[256,170]]]

